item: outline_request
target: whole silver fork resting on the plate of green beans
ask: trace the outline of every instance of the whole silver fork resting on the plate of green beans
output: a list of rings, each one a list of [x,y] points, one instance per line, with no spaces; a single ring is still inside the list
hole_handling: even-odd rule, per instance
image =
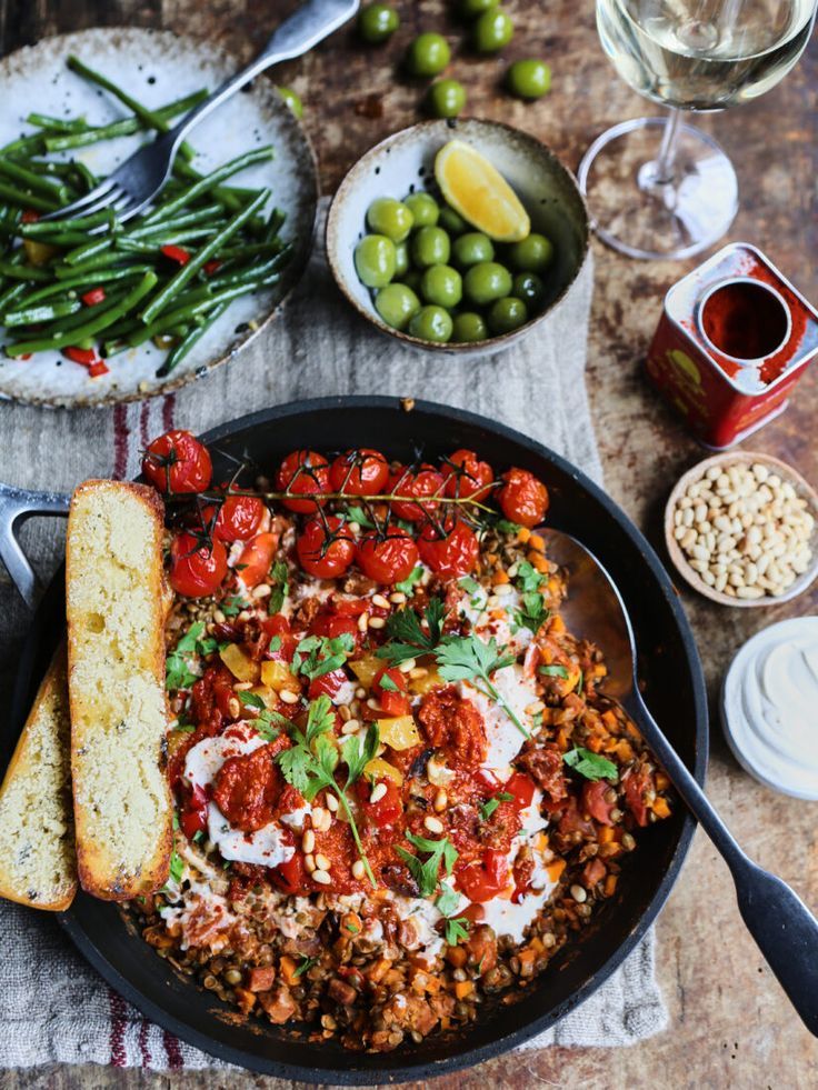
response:
[[[194,124],[272,64],[309,52],[342,27],[359,3],[360,0],[308,0],[281,23],[255,61],[222,83],[174,128],[140,148],[84,197],[41,217],[41,221],[91,216],[103,208],[111,208],[120,222],[137,216],[168,180],[179,146]]]

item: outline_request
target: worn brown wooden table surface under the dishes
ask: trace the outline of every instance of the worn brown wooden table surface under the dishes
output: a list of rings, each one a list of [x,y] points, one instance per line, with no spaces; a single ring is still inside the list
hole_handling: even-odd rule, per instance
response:
[[[243,60],[258,50],[292,0],[0,0],[0,53],[46,34],[94,24],[166,27],[203,36]],[[533,132],[576,169],[609,124],[655,112],[606,61],[592,0],[509,0],[516,37],[501,59],[478,60],[460,47],[462,28],[443,0],[396,0],[402,27],[387,47],[368,49],[342,31],[277,81],[305,101],[305,122],[321,160],[325,191],[372,143],[418,117],[420,90],[397,73],[406,42],[421,30],[446,32],[451,73],[467,86],[469,113]],[[553,90],[539,103],[509,99],[500,77],[509,58],[542,54]],[[777,89],[740,110],[699,119],[736,164],[741,211],[731,239],[760,246],[801,291],[818,299],[818,44]],[[588,389],[607,488],[660,553],[661,511],[679,474],[705,452],[660,403],[642,377],[642,359],[664,292],[695,262],[634,262],[595,243],[597,287],[590,327]],[[777,454],[818,483],[818,367],[801,381],[789,410],[745,444]],[[730,757],[718,722],[719,681],[738,647],[760,628],[818,612],[818,588],[771,609],[708,603],[681,589],[711,698],[709,793],[749,852],[818,908],[815,803],[758,786]],[[684,873],[658,922],[658,972],[670,1029],[634,1049],[549,1049],[496,1060],[435,1082],[436,1090],[491,1084],[585,1088],[669,1087],[738,1090],[818,1086],[818,1046],[789,1008],[736,910],[725,864],[697,833]],[[169,1084],[167,1076],[101,1068],[52,1068],[8,1074],[14,1088],[110,1088]],[[172,1084],[205,1088],[223,1078],[184,1073]],[[273,1079],[230,1076],[236,1090],[283,1087]]]

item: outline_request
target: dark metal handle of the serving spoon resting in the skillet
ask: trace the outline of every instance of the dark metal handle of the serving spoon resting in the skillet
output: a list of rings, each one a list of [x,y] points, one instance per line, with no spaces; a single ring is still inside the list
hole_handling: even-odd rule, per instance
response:
[[[804,1024],[818,1037],[818,920],[780,878],[748,859],[638,692],[624,701],[690,811],[732,873],[739,911]]]

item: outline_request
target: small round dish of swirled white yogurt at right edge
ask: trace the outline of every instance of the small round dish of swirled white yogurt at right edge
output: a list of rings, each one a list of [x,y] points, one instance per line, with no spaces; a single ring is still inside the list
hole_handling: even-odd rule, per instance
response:
[[[725,679],[722,712],[748,771],[818,800],[818,617],[781,621],[748,640]]]

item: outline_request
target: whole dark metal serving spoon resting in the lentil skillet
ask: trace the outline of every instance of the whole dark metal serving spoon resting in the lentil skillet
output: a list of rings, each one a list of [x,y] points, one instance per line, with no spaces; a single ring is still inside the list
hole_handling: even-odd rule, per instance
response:
[[[546,528],[549,560],[569,572],[560,611],[569,631],[605,653],[603,692],[619,701],[674,787],[714,842],[736,882],[738,907],[750,934],[807,1029],[818,1037],[818,920],[780,878],[749,859],[657,726],[639,692],[636,644],[628,611],[602,564],[567,533]]]

